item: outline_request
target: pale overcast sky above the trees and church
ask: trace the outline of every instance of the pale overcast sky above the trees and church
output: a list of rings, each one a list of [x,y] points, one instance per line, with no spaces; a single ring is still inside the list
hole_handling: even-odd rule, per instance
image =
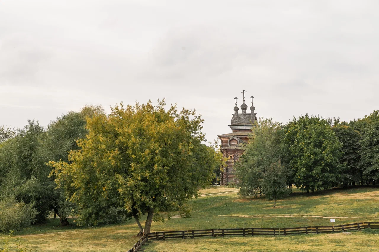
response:
[[[379,109],[378,3],[0,0],[0,125],[165,97],[213,140],[242,89],[259,117],[361,118]]]

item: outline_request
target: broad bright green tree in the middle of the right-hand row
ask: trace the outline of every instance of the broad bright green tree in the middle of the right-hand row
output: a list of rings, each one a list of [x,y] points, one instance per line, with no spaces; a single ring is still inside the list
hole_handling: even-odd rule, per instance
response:
[[[283,144],[288,148],[294,183],[302,191],[340,183],[341,144],[328,120],[308,115],[293,118],[285,127]]]

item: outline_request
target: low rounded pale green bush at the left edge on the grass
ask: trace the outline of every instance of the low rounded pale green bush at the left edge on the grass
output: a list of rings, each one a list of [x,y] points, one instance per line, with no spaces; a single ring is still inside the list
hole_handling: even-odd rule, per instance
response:
[[[3,199],[0,201],[0,231],[22,230],[35,222],[37,214],[33,204],[17,202],[12,198]]]

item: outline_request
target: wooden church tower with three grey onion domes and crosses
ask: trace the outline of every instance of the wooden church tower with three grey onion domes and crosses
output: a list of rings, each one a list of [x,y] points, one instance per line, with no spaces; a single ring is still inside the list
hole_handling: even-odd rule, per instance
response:
[[[228,158],[227,168],[221,173],[221,185],[227,185],[229,183],[236,182],[234,178],[234,165],[238,158],[243,154],[243,143],[247,143],[251,134],[251,128],[253,124],[257,123],[257,113],[254,112],[253,96],[251,96],[250,113],[247,114],[247,105],[245,104],[245,93],[243,90],[243,103],[241,105],[241,114],[238,113],[237,96],[236,105],[234,107],[234,114],[232,116],[232,122],[229,127],[232,129],[232,133],[218,135],[221,140],[221,152],[224,157]]]

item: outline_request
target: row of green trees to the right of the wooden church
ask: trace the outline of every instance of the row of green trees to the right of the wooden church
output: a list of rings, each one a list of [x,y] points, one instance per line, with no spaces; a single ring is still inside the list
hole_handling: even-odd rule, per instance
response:
[[[313,192],[379,180],[379,110],[349,123],[308,115],[287,124],[261,118],[252,131],[236,165],[242,196],[277,199],[292,185]]]

